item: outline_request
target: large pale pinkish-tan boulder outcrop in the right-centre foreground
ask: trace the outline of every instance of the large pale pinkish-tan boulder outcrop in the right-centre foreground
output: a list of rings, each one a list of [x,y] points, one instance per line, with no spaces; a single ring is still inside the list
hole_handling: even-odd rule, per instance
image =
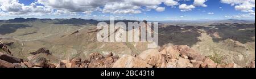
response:
[[[254,62],[248,67],[253,67]],[[149,49],[137,57],[123,55],[113,65],[114,68],[239,68],[235,63],[217,64],[212,59],[200,55],[189,46],[165,46],[160,50]],[[254,66],[255,67],[255,66]]]

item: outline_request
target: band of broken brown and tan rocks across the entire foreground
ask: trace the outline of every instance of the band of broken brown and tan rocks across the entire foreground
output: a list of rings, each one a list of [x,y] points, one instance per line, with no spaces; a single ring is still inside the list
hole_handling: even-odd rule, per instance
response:
[[[3,45],[2,42],[0,42]],[[4,45],[3,45],[4,46]],[[7,47],[6,47],[7,48]],[[49,50],[41,48],[30,54],[45,53],[51,55]],[[89,60],[73,58],[51,63],[46,58],[23,60],[0,51],[0,68],[240,68],[235,63],[217,64],[210,58],[200,55],[189,46],[164,46],[158,49],[149,49],[138,56],[101,55],[98,52],[89,55]],[[255,60],[247,64],[246,68],[255,68]]]

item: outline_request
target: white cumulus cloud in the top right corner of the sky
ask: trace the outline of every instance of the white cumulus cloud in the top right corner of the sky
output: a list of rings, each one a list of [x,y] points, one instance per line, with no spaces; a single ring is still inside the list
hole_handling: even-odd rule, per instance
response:
[[[252,12],[255,8],[255,0],[221,0],[221,2],[230,4],[236,10],[243,12]]]

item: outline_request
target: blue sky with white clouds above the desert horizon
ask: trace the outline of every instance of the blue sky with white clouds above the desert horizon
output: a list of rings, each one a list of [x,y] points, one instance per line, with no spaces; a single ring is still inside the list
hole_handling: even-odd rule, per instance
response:
[[[255,19],[255,0],[0,0],[0,19]]]

